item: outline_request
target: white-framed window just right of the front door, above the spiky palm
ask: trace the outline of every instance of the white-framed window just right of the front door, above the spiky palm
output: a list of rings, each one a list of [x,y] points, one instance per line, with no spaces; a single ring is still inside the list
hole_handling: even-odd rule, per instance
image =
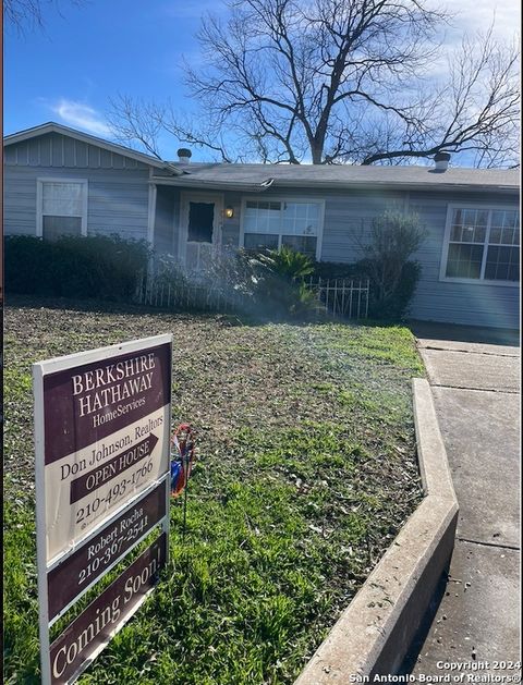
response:
[[[247,200],[243,216],[246,249],[291,247],[316,257],[321,203],[301,200]]]

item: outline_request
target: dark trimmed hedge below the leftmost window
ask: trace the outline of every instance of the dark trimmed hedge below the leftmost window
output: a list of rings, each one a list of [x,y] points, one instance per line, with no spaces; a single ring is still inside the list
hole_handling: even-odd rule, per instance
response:
[[[5,237],[5,291],[58,297],[129,301],[147,267],[145,241],[118,235],[63,236],[44,241]]]

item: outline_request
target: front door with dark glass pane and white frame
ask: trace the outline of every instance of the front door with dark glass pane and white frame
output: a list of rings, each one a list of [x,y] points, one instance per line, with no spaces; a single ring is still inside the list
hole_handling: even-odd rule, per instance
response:
[[[200,271],[221,246],[220,195],[182,195],[180,257],[190,271]]]

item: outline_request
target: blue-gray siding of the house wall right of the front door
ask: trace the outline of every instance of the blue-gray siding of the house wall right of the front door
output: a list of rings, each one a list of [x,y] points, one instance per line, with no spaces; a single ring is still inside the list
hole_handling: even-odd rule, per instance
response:
[[[422,277],[411,303],[409,316],[414,319],[449,323],[519,328],[519,286],[490,285],[481,282],[451,283],[439,279],[448,205],[463,203],[470,206],[503,205],[516,208],[519,206],[516,196],[463,192],[452,194],[372,191],[325,193],[293,188],[270,189],[263,193],[260,198],[271,196],[325,199],[321,261],[350,264],[361,259],[363,257],[361,244],[365,242],[372,219],[385,209],[416,212],[421,223],[427,229],[427,238],[418,253],[414,255],[422,265]],[[240,196],[235,201],[241,206]],[[231,230],[231,237],[235,235],[235,232]],[[238,240],[239,235],[240,225],[238,225]]]

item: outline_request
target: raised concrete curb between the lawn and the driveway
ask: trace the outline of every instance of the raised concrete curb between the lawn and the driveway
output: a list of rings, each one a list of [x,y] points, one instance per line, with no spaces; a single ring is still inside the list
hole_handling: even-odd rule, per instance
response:
[[[422,624],[454,546],[458,500],[430,387],[412,381],[425,499],[318,647],[294,685],[392,675]]]

